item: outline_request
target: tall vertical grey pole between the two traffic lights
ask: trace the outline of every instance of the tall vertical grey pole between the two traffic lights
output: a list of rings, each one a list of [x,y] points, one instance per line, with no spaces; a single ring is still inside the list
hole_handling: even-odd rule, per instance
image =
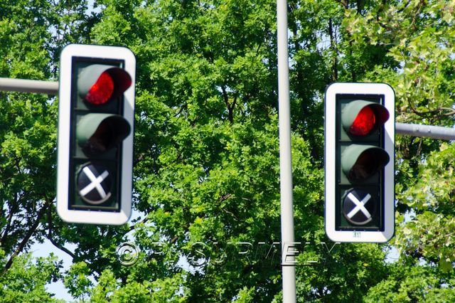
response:
[[[289,59],[287,36],[287,0],[277,0],[278,39],[278,119],[279,177],[282,213],[283,302],[296,302],[294,256],[286,251],[294,243],[294,211],[292,209],[291,110],[289,106]],[[292,245],[292,244],[291,244]],[[284,260],[284,257],[287,260]]]

